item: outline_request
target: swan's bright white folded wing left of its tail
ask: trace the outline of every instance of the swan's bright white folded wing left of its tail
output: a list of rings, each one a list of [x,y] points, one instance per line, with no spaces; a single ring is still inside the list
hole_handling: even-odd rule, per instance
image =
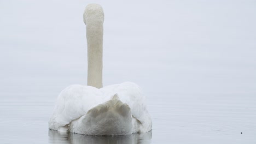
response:
[[[59,130],[86,114],[91,107],[102,103],[101,91],[91,86],[72,85],[60,93],[57,98],[49,129]]]

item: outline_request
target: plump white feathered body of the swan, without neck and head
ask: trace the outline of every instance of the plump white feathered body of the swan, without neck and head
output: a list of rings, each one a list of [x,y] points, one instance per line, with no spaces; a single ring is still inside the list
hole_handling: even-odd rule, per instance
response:
[[[143,92],[135,83],[101,89],[72,85],[59,95],[49,128],[86,135],[126,135],[150,131],[152,121]]]

